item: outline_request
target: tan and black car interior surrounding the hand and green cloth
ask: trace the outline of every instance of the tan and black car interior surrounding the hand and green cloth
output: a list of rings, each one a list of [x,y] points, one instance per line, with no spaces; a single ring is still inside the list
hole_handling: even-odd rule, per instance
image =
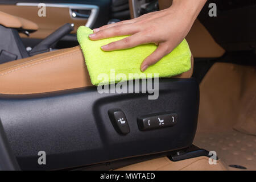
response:
[[[191,69],[160,78],[157,100],[142,91],[100,94],[90,82],[78,27],[171,5],[0,0],[0,170],[256,170],[255,1],[207,1],[185,38]],[[115,112],[129,123],[125,134]],[[141,129],[144,119],[170,113],[172,127]]]

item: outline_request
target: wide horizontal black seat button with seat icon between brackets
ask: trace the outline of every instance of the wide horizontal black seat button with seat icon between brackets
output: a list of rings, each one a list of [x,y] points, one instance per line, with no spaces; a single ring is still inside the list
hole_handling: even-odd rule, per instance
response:
[[[177,123],[176,113],[155,114],[137,118],[139,130],[153,130],[174,126]]]

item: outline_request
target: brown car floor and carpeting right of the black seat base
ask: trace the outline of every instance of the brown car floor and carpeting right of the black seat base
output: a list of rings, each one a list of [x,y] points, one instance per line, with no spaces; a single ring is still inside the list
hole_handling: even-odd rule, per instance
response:
[[[216,151],[230,170],[256,170],[255,95],[255,67],[215,63],[200,84],[193,144]]]

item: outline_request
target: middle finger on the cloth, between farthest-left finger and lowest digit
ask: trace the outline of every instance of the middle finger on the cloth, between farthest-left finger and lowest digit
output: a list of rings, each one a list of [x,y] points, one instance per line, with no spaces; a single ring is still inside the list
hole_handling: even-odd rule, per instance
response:
[[[101,48],[104,51],[114,51],[118,49],[127,49],[127,48],[138,46],[140,44],[146,44],[146,43],[150,43],[150,40],[146,36],[142,36],[141,33],[138,33],[138,34],[128,36],[127,38],[124,38],[122,40],[118,40],[118,41],[106,44]]]

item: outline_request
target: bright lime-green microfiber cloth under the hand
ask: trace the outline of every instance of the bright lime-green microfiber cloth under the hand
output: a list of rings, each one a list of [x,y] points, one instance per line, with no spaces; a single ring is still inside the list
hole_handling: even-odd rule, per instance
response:
[[[113,71],[115,75],[122,73],[122,81],[126,81],[145,78],[145,75],[146,77],[147,75],[154,77],[154,73],[158,73],[158,77],[171,77],[191,69],[191,52],[185,39],[171,53],[164,56],[156,64],[148,67],[146,71],[141,72],[141,63],[148,55],[155,51],[157,48],[155,44],[143,44],[129,49],[106,52],[102,51],[101,46],[121,40],[127,36],[90,40],[88,35],[92,33],[93,31],[85,26],[80,26],[77,30],[77,39],[84,54],[85,63],[93,85],[118,82],[117,78],[113,77]],[[102,81],[102,73],[108,76],[108,79]],[[129,76],[129,73],[134,73],[133,78]]]

